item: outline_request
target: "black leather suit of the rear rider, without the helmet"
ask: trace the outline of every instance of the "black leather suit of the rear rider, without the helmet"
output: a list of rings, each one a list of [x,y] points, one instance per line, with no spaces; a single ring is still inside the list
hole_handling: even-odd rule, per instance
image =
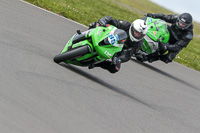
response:
[[[159,18],[159,19],[165,20],[168,23],[171,23],[171,26],[168,26],[168,30],[170,32],[170,40],[169,40],[169,45],[167,46],[167,49],[169,53],[167,55],[160,56],[160,60],[166,63],[172,62],[172,60],[176,57],[176,55],[184,47],[187,47],[189,42],[192,40],[193,24],[191,24],[189,28],[182,30],[176,26],[178,15],[153,14],[153,18]],[[153,56],[149,57],[149,60],[151,60],[151,62],[158,59],[159,57],[153,57]]]

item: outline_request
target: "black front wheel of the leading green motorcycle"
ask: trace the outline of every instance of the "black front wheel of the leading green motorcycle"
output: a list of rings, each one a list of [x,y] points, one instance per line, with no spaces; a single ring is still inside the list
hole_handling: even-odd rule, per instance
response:
[[[63,61],[66,61],[66,60],[69,60],[69,59],[72,59],[72,58],[75,58],[75,57],[78,57],[78,56],[82,56],[82,55],[85,55],[85,54],[88,54],[88,53],[90,53],[90,47],[88,45],[85,45],[85,46],[76,48],[74,50],[67,51],[65,53],[56,55],[53,58],[53,60],[56,63],[60,63],[60,62],[63,62]]]

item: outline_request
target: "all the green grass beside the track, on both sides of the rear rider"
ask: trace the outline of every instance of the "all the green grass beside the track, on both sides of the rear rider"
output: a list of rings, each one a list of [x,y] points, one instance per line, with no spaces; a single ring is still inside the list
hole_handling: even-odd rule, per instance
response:
[[[105,16],[129,22],[143,17],[144,13],[174,14],[148,0],[25,0],[66,18],[88,26]],[[137,9],[141,12],[138,12]],[[194,33],[200,35],[200,24],[194,22]],[[194,37],[174,59],[185,66],[200,71],[200,38]]]

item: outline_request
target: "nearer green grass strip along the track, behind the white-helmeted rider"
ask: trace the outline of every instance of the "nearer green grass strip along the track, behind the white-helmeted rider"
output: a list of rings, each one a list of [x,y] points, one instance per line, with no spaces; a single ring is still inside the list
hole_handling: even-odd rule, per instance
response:
[[[26,0],[39,7],[45,8],[66,18],[88,26],[91,22],[112,15],[116,19],[133,21],[138,14],[119,7],[108,0]],[[130,14],[132,17],[130,17]]]

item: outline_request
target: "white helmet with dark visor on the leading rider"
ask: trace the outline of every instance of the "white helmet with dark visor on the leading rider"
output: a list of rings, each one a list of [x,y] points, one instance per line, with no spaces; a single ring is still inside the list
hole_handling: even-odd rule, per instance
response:
[[[142,19],[136,19],[135,21],[133,21],[129,29],[129,36],[131,41],[138,42],[142,40],[146,34],[147,34],[146,22]]]

